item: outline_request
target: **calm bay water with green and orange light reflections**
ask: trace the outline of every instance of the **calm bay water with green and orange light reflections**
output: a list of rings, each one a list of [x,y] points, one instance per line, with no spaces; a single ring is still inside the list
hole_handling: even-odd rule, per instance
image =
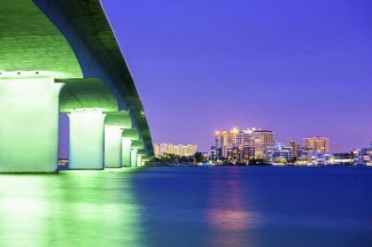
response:
[[[0,246],[372,246],[368,167],[0,175]]]

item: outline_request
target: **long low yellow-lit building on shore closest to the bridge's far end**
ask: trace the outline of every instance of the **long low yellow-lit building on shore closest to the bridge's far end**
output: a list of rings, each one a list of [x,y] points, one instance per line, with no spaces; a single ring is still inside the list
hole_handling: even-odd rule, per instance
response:
[[[180,157],[194,156],[198,151],[198,145],[193,144],[171,144],[171,143],[159,143],[155,145],[155,156],[160,158],[167,155],[175,155]]]

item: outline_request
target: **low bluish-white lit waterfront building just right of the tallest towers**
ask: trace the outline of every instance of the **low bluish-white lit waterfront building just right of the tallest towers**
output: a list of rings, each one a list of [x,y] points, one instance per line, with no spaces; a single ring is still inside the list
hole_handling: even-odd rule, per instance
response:
[[[293,160],[293,149],[291,146],[284,146],[283,143],[275,143],[274,146],[267,147],[266,162],[275,165],[284,165]]]

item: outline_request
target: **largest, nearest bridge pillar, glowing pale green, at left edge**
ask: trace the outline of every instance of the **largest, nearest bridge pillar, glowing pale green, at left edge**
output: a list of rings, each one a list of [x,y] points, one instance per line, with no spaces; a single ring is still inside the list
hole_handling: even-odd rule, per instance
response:
[[[52,79],[0,80],[0,172],[57,170],[62,86]]]

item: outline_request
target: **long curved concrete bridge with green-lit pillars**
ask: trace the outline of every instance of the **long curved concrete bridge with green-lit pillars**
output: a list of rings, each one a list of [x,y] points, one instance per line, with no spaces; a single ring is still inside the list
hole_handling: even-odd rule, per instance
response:
[[[0,0],[0,173],[142,166],[153,156],[136,85],[99,0]]]

